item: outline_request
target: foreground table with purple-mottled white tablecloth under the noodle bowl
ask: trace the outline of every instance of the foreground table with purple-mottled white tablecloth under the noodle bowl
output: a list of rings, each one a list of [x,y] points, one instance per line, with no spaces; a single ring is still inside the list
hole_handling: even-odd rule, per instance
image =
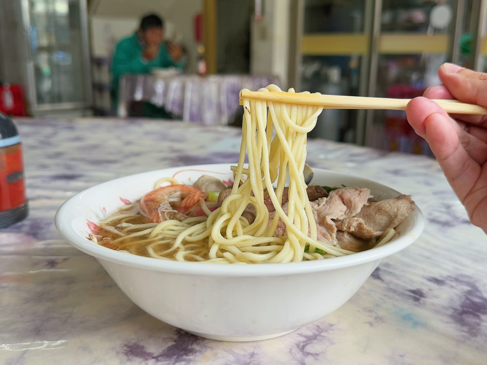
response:
[[[136,307],[93,257],[61,239],[54,217],[75,193],[113,178],[236,162],[240,130],[141,119],[17,124],[31,211],[0,230],[0,364],[486,364],[487,237],[435,160],[309,141],[312,166],[411,194],[424,233],[318,322],[270,340],[218,342]]]

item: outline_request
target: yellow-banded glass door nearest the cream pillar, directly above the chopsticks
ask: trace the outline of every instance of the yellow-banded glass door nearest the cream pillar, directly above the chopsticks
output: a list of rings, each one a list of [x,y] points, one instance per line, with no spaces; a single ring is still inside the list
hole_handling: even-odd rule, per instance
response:
[[[373,1],[304,0],[300,90],[366,95]],[[309,137],[360,140],[360,110],[323,110]]]

